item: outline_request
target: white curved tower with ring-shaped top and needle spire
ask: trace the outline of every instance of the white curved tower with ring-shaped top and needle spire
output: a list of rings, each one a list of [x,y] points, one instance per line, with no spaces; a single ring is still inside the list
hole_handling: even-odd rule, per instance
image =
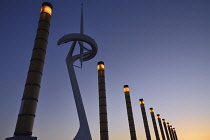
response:
[[[77,60],[80,60],[81,67],[82,67],[83,61],[88,61],[92,59],[93,57],[95,57],[98,51],[98,46],[96,42],[94,41],[94,39],[85,35],[83,32],[84,32],[84,27],[83,27],[83,5],[82,5],[80,33],[64,35],[58,40],[58,43],[57,43],[58,45],[61,45],[61,44],[72,41],[71,48],[66,57],[66,65],[68,68],[69,78],[71,81],[75,104],[76,104],[77,113],[78,113],[79,122],[80,122],[80,127],[74,140],[92,140],[90,129],[87,122],[87,117],[85,114],[84,105],[82,102],[82,97],[80,94],[77,78],[74,71],[74,62]],[[80,53],[77,55],[73,55],[73,52],[77,43],[79,44],[79,47],[80,47]],[[87,43],[91,47],[91,49],[88,49],[87,47],[85,47],[83,43]]]

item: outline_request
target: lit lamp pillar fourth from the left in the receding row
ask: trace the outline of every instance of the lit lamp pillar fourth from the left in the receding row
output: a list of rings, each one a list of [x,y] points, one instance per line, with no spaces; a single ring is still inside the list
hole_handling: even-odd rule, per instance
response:
[[[144,100],[139,99],[140,107],[141,107],[141,113],[142,113],[142,118],[143,118],[143,123],[144,123],[144,128],[145,128],[145,133],[146,133],[146,138],[147,140],[151,140],[150,136],[150,131],[149,131],[149,125],[147,121],[147,115],[144,107]]]

